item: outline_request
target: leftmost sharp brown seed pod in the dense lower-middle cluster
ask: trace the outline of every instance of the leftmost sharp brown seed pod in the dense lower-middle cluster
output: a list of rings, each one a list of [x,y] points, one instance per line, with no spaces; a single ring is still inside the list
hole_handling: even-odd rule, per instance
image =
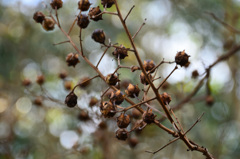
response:
[[[116,114],[115,106],[111,102],[102,102],[100,111],[105,118],[111,118]]]

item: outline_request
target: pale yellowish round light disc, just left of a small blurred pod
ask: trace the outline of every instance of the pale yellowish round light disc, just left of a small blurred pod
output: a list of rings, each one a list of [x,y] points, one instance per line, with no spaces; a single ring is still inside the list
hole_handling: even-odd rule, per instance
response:
[[[32,102],[27,97],[21,97],[16,102],[16,108],[19,112],[26,114],[31,110]]]

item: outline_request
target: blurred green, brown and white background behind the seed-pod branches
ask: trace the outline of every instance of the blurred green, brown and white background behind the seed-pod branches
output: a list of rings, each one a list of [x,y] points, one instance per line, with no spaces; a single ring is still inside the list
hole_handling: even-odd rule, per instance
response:
[[[78,14],[77,0],[64,0],[59,10],[62,27],[68,30]],[[92,6],[100,0],[90,0]],[[180,68],[169,78],[166,91],[172,96],[172,105],[187,96],[198,83],[210,64],[239,43],[239,35],[223,27],[206,12],[212,12],[221,20],[240,28],[239,0],[127,0],[119,1],[123,15],[135,5],[127,20],[132,34],[146,18],[146,25],[136,37],[136,46],[142,60],[153,59],[155,63],[163,58],[174,61],[177,51],[185,50],[191,57],[188,68]],[[40,0],[0,0],[0,158],[1,159],[202,159],[199,152],[187,152],[181,141],[171,144],[155,155],[145,150],[156,150],[172,139],[170,135],[150,125],[141,133],[132,133],[138,141],[133,148],[129,141],[115,138],[115,119],[99,117],[99,107],[89,107],[92,97],[100,99],[106,85],[94,79],[90,86],[76,90],[78,107],[70,109],[64,104],[68,90],[65,81],[74,86],[83,77],[95,74],[83,60],[75,67],[67,67],[65,57],[74,52],[70,44],[53,45],[65,41],[58,28],[46,32],[32,19],[35,11],[47,14]],[[110,11],[115,11],[113,6]],[[130,47],[124,30],[115,16],[104,15],[102,21],[91,21],[83,32],[86,56],[94,64],[101,57],[104,48],[91,39],[94,29],[101,28],[112,43],[118,42]],[[79,28],[75,25],[71,37],[78,44]],[[104,75],[117,67],[110,50],[99,66]],[[193,100],[176,112],[185,130],[205,112],[200,123],[188,134],[189,138],[203,145],[219,159],[240,157],[240,55],[236,54],[212,70],[210,86],[214,104],[205,102],[206,87],[203,86]],[[123,65],[136,65],[133,54],[122,61]],[[166,77],[174,65],[163,65],[158,76]],[[65,81],[58,78],[61,71],[68,72]],[[200,77],[191,78],[198,70]],[[46,82],[43,89],[35,83],[43,74]],[[120,70],[120,79],[134,84],[141,83],[139,72]],[[25,89],[22,80],[33,83]],[[156,83],[160,83],[156,81]],[[44,99],[41,106],[34,103],[37,96]],[[57,101],[49,100],[57,99]],[[158,105],[152,103],[160,109]],[[128,106],[123,103],[123,107]],[[79,119],[79,113],[88,112],[90,120]],[[131,112],[129,112],[131,114]],[[158,114],[158,117],[161,117]],[[99,128],[102,121],[107,128]],[[132,119],[132,122],[135,122]],[[170,127],[167,121],[164,125]]]

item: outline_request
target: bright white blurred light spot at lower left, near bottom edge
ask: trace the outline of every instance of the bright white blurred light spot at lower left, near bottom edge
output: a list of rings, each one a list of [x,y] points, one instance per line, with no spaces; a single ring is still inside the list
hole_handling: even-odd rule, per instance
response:
[[[74,131],[64,131],[60,135],[60,143],[66,149],[71,149],[78,139],[79,137]]]

